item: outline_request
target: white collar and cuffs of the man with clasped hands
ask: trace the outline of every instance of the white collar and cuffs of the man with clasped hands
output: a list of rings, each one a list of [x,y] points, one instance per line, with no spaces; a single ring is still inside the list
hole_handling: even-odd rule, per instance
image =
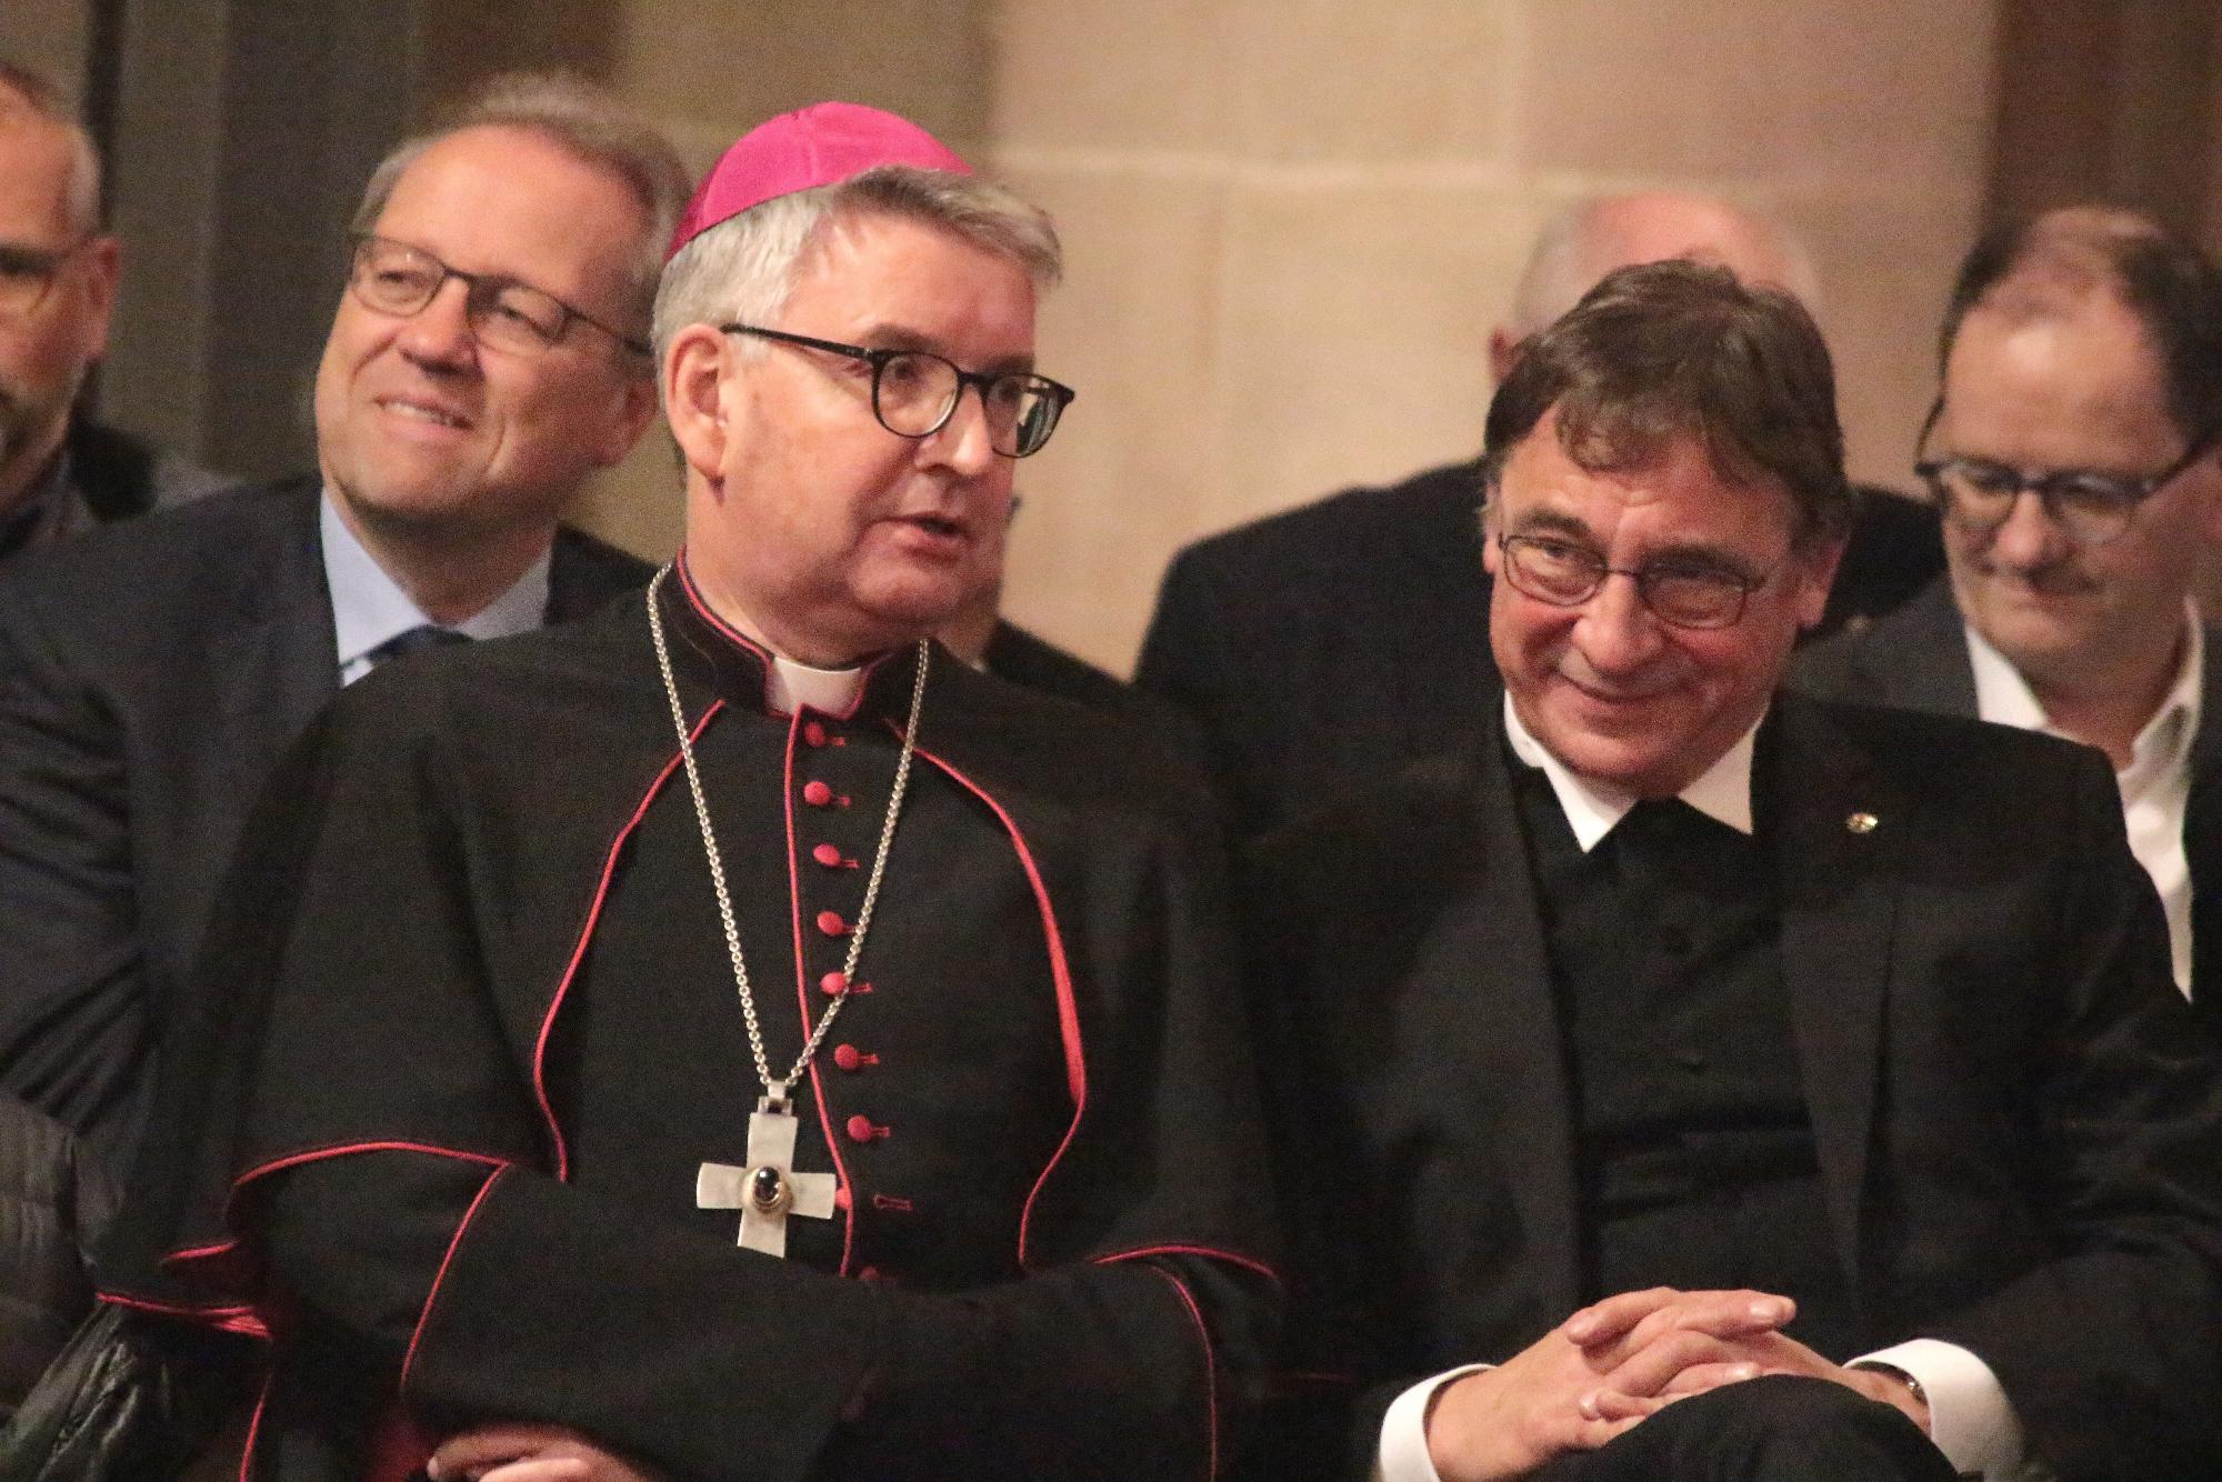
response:
[[[1633,793],[1567,771],[1520,724],[1511,695],[1504,698],[1504,733],[1513,744],[1513,755],[1529,767],[1540,767],[1542,775],[1551,780],[1551,791],[1567,811],[1567,822],[1573,827],[1582,853],[1589,853],[1635,807]],[[1704,775],[1682,789],[1682,802],[1738,833],[1751,833],[1751,747],[1755,738],[1758,724],[1744,731]],[[1889,1364],[1913,1375],[1929,1398],[1929,1435],[1955,1471],[2002,1482],[2020,1466],[2022,1424],[2006,1402],[2006,1391],[1998,1386],[1998,1375],[1966,1349],[1915,1338],[1853,1362]],[[1442,1482],[1427,1453],[1427,1406],[1444,1384],[1482,1369],[1489,1364],[1464,1364],[1420,1380],[1395,1398],[1382,1418],[1378,1466],[1382,1482]]]

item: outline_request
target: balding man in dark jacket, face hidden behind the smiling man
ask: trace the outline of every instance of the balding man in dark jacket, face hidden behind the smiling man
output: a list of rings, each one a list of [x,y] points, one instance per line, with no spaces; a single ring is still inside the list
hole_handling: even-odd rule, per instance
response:
[[[1615,267],[1695,258],[1813,302],[1804,249],[1722,200],[1609,196],[1535,240],[1495,380]],[[1238,833],[1262,833],[1462,744],[1491,682],[1478,462],[1344,489],[1173,558],[1135,684],[1204,731]],[[1889,611],[1942,567],[1935,515],[1866,498],[1820,631]]]

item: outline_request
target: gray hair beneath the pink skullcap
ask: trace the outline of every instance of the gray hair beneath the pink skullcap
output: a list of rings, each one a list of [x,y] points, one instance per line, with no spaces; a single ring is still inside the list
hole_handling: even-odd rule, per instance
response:
[[[1064,271],[1049,216],[978,176],[882,164],[838,184],[775,196],[718,222],[682,247],[655,291],[655,360],[689,324],[769,324],[787,307],[802,260],[844,218],[895,216],[938,227],[1015,262],[1035,289]],[[762,347],[747,342],[747,353]]]

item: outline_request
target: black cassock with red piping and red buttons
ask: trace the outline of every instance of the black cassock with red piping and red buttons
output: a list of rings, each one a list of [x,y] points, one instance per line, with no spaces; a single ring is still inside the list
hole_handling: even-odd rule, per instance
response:
[[[682,582],[784,1073],[835,1002],[915,658],[855,713],[780,715]],[[773,1260],[695,1209],[760,1084],[642,600],[400,664],[256,822],[109,1286],[280,1333],[269,1475],[393,1466],[398,1391],[424,1433],[547,1420],[682,1478],[1204,1478],[1275,1313],[1220,875],[1149,738],[935,651],[795,1089],[838,1209]]]

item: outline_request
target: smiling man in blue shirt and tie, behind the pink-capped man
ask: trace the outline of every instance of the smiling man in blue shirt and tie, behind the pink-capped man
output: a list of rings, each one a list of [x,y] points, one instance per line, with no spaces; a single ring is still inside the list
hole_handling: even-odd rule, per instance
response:
[[[111,1166],[256,791],[318,709],[411,649],[647,578],[558,518],[655,415],[649,300],[684,189],[598,93],[496,84],[364,191],[318,473],[7,567],[0,1089]]]

